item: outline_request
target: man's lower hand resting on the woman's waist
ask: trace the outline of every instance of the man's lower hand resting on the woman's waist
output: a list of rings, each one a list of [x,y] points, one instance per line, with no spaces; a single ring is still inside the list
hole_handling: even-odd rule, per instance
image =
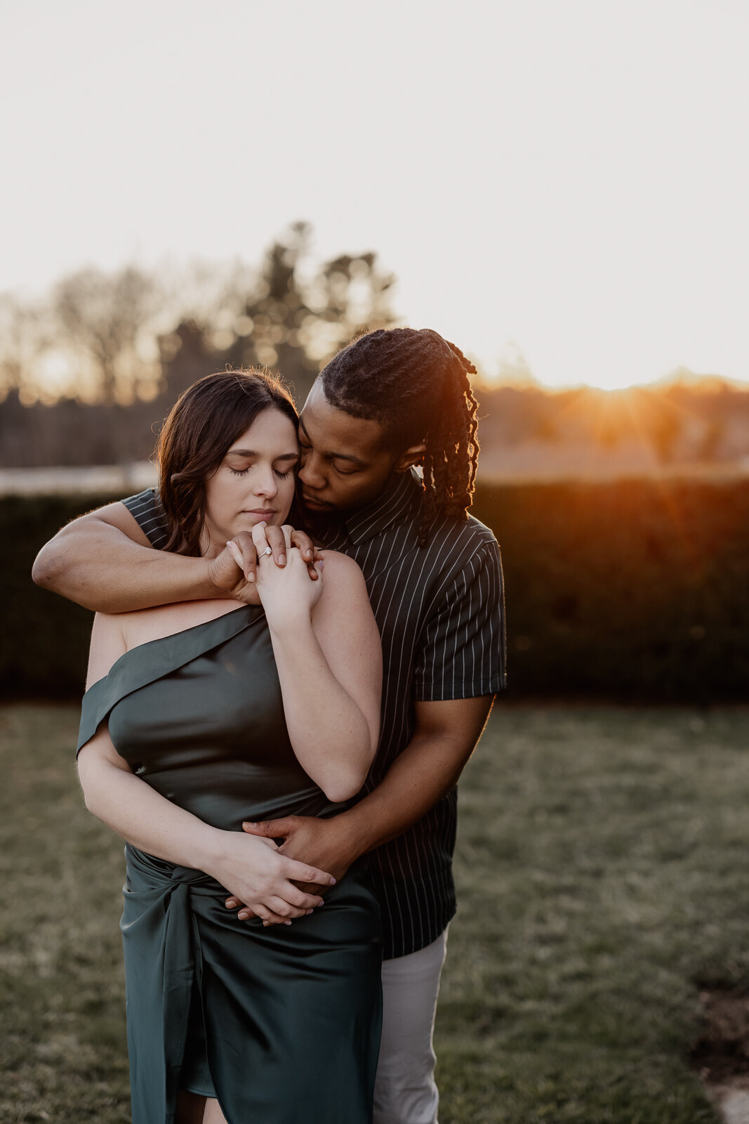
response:
[[[354,844],[345,823],[340,821],[345,814],[321,819],[317,816],[286,816],[283,819],[266,819],[259,824],[243,824],[249,835],[261,835],[264,839],[283,839],[278,853],[287,859],[298,859],[328,871],[337,881],[344,877],[348,868],[359,858],[360,852]],[[303,858],[302,858],[303,855]],[[312,882],[296,882],[305,894],[325,894],[328,886]],[[247,921],[254,916],[253,903],[241,903],[236,898],[227,898],[227,909],[241,906],[237,916]]]

